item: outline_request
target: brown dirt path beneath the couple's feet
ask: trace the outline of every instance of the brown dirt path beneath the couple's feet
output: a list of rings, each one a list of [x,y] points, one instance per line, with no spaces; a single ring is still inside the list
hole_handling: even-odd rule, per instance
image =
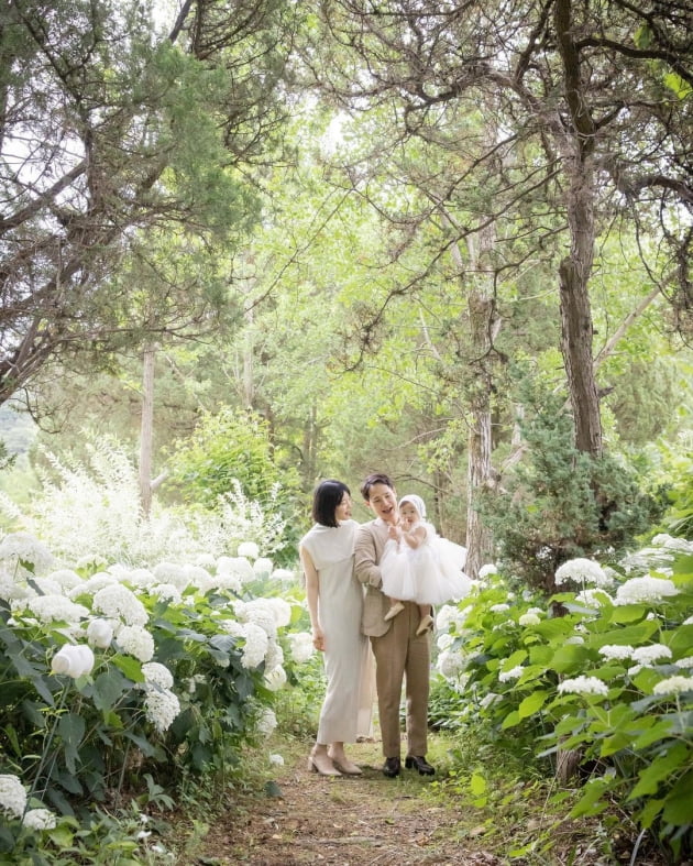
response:
[[[210,866],[502,864],[494,855],[474,849],[459,812],[427,796],[430,779],[411,770],[386,779],[380,744],[356,744],[350,755],[363,767],[363,776],[326,778],[308,771],[305,755],[287,759],[277,774],[277,788],[270,786],[265,798],[235,803],[216,822],[194,862]],[[461,832],[466,838],[460,838]]]

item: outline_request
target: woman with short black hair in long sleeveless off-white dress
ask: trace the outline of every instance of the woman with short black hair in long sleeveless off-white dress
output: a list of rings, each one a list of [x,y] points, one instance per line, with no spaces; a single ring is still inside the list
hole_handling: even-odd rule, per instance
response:
[[[369,639],[361,634],[363,588],[353,574],[359,524],[341,481],[322,481],[312,501],[315,525],[300,539],[314,646],[324,653],[327,691],[309,766],[322,776],[359,775],[344,752],[371,733],[373,676]]]

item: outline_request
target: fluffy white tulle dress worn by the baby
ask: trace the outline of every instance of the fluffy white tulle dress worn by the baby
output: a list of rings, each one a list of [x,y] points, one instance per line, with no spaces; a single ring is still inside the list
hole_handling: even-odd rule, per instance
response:
[[[421,544],[389,539],[381,560],[383,592],[393,599],[417,604],[442,604],[469,594],[471,581],[464,573],[466,548],[441,538],[432,524],[421,520]]]

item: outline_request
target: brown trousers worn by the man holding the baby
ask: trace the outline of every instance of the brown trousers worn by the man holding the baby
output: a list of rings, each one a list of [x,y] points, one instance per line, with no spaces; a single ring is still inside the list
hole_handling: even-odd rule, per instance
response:
[[[419,609],[414,602],[404,602],[404,611],[391,621],[382,637],[371,636],[383,755],[386,758],[399,757],[403,680],[407,695],[407,755],[425,756],[427,750],[430,632],[417,637]]]

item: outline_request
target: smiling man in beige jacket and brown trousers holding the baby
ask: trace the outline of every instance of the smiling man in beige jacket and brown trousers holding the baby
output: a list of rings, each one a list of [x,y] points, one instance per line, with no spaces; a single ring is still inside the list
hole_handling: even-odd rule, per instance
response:
[[[426,760],[428,732],[428,692],[430,677],[429,633],[417,635],[419,609],[404,602],[404,611],[386,621],[389,600],[383,593],[380,562],[391,526],[397,526],[397,493],[391,479],[378,472],[361,485],[366,505],[375,519],[356,531],[354,570],[366,588],[361,628],[371,638],[375,656],[377,706],[383,736],[385,764],[383,772],[399,776],[399,702],[403,680],[407,695],[407,755],[405,767],[416,768],[422,776],[436,770]]]

